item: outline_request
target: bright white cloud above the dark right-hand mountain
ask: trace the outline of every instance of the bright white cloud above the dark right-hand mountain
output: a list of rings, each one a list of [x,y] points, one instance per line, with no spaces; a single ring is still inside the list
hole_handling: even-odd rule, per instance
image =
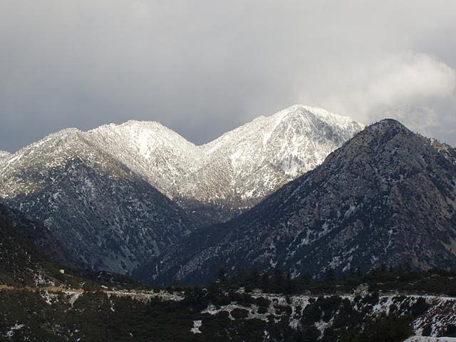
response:
[[[343,72],[343,79],[335,88],[328,86],[328,107],[365,122],[396,112],[402,113],[401,119],[407,118],[408,111],[412,116],[430,114],[432,110],[426,108],[430,102],[452,98],[456,89],[454,69],[433,56],[411,51],[378,56],[368,64],[359,61]],[[325,95],[318,95],[325,102]]]

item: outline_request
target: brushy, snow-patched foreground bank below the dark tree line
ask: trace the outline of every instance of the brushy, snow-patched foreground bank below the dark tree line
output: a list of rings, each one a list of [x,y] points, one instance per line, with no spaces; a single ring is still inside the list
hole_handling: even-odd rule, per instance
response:
[[[1,341],[403,342],[452,336],[455,323],[442,296],[0,289]]]

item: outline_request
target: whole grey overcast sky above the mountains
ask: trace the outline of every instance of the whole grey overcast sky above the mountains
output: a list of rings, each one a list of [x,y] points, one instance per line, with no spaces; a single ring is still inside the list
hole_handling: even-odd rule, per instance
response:
[[[0,150],[157,120],[202,143],[295,103],[456,145],[455,0],[1,0]]]

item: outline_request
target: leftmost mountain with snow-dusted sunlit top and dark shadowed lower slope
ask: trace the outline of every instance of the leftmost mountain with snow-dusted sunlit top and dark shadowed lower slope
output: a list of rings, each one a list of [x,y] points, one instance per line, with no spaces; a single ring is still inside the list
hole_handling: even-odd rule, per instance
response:
[[[0,165],[0,197],[46,224],[83,266],[128,273],[194,223],[167,197],[76,129]]]

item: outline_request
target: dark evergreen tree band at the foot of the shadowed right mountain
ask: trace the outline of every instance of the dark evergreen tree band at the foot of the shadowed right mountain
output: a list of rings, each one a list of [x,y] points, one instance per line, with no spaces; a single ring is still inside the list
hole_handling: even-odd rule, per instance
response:
[[[411,271],[407,266],[386,268],[380,266],[364,274],[360,268],[344,274],[331,274],[326,271],[323,279],[304,274],[292,279],[289,271],[274,269],[271,273],[258,269],[235,269],[232,276],[220,268],[217,284],[229,288],[244,287],[245,291],[261,289],[269,293],[281,294],[330,294],[354,291],[359,284],[366,284],[371,291],[403,291],[405,293],[445,294],[456,296],[456,272],[441,269]]]

